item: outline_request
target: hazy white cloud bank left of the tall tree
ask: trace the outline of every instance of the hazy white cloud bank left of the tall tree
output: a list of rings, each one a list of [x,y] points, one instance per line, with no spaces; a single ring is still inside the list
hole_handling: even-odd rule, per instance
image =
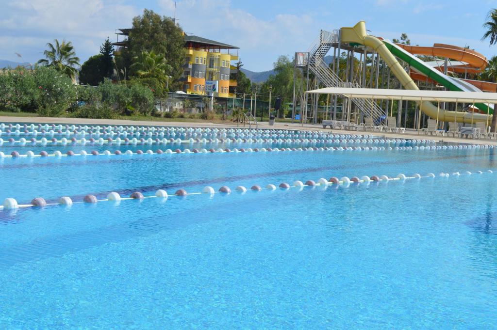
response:
[[[0,12],[0,58],[25,61],[41,57],[53,39],[73,42],[82,62],[97,54],[107,36],[114,39],[118,27],[129,26],[141,9],[119,0],[30,0],[10,1]]]

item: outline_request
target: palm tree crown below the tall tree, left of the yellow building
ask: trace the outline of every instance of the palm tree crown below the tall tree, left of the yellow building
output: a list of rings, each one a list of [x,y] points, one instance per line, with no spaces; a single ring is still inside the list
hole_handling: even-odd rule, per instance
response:
[[[163,84],[166,84],[167,73],[172,70],[166,63],[164,54],[156,54],[154,51],[143,51],[140,56],[133,58],[133,62],[130,67],[136,70],[140,77],[156,78]]]

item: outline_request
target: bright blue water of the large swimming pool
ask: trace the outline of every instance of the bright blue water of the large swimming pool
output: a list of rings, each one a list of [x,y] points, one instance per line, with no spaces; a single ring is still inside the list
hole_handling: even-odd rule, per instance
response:
[[[494,328],[496,149],[310,139],[15,146],[99,155],[0,159],[0,200],[74,201],[0,210],[0,325]],[[136,154],[176,147],[183,152]],[[203,148],[230,152],[184,153]],[[135,154],[100,154],[128,149]],[[422,178],[250,190],[400,173]],[[195,194],[206,186],[232,193]],[[159,189],[169,197],[102,200]],[[174,196],[179,189],[194,195]],[[79,203],[87,194],[99,201]]]

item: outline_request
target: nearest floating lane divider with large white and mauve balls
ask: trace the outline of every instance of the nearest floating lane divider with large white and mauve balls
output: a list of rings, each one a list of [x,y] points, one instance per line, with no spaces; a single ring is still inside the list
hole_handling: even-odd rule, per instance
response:
[[[474,173],[476,174],[484,174],[484,173],[489,173],[492,174],[494,173],[492,170],[487,170],[485,172],[483,171],[475,171]],[[470,171],[464,171],[464,172],[454,172],[452,173],[452,176],[459,177],[461,175],[472,175],[473,173]],[[441,172],[439,177],[442,178],[448,178],[450,175],[449,173],[444,173]],[[399,174],[396,177],[388,177],[386,175],[382,176],[377,176],[373,175],[371,177],[368,176],[362,176],[362,177],[341,177],[338,179],[337,177],[331,177],[329,180],[321,178],[318,181],[313,181],[313,180],[308,180],[305,183],[302,181],[296,180],[292,184],[282,182],[278,186],[273,185],[273,184],[268,184],[265,187],[261,187],[258,185],[253,185],[250,187],[250,191],[252,192],[260,192],[262,190],[269,190],[269,191],[274,191],[276,189],[280,190],[289,190],[289,189],[298,189],[299,191],[302,191],[304,187],[320,187],[322,189],[327,189],[329,186],[335,186],[336,188],[342,186],[345,188],[348,188],[352,185],[359,185],[359,184],[366,184],[369,185],[371,182],[376,182],[376,183],[388,183],[391,181],[401,181],[404,182],[406,180],[414,180],[414,179],[423,179],[423,178],[435,178],[436,175],[433,173],[428,173],[425,176],[421,176],[420,174],[414,174],[411,177],[406,176],[405,174]],[[245,194],[247,193],[248,189],[244,186],[238,186],[235,188],[235,192],[240,193],[240,194]],[[98,199],[94,195],[86,195],[83,200],[81,201],[73,201],[70,197],[64,196],[58,199],[57,203],[47,203],[46,200],[42,197],[36,197],[31,200],[29,204],[19,204],[17,203],[17,200],[14,198],[5,198],[3,200],[2,205],[0,205],[1,210],[11,210],[11,209],[17,209],[17,208],[27,208],[27,207],[38,207],[38,208],[43,208],[47,206],[54,206],[54,205],[65,205],[65,206],[71,206],[76,203],[89,203],[89,204],[95,204],[98,202],[102,201],[121,201],[121,200],[130,200],[130,199],[135,199],[135,200],[143,200],[145,198],[162,198],[163,200],[166,200],[169,197],[180,197],[180,198],[185,198],[187,196],[193,196],[193,195],[209,195],[213,197],[215,194],[225,194],[229,195],[231,194],[231,188],[228,186],[222,186],[219,188],[218,191],[216,191],[213,187],[207,186],[202,189],[202,192],[195,192],[195,193],[188,193],[184,189],[178,189],[174,194],[168,195],[167,192],[163,189],[159,189],[155,192],[154,195],[152,196],[144,196],[143,193],[141,192],[134,192],[132,193],[129,197],[121,197],[118,193],[116,192],[111,192],[107,194],[107,198],[104,199]]]

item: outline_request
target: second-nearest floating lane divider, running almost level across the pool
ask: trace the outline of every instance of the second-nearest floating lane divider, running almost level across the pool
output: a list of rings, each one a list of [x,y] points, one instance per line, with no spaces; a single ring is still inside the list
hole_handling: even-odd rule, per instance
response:
[[[122,152],[121,150],[116,150],[114,152],[111,152],[109,150],[104,150],[102,152],[99,152],[97,150],[93,150],[90,153],[88,153],[85,150],[80,151],[80,153],[75,153],[72,150],[69,150],[65,153],[62,153],[59,150],[54,151],[53,154],[49,154],[46,151],[41,151],[39,154],[35,154],[33,151],[27,151],[26,154],[20,154],[18,151],[12,151],[10,154],[5,154],[2,151],[0,151],[0,159],[1,158],[36,158],[36,157],[73,157],[73,156],[88,156],[88,155],[93,155],[93,156],[111,156],[111,155],[143,155],[143,154],[150,154],[150,155],[159,155],[159,154],[192,154],[192,153],[200,153],[200,154],[205,154],[205,153],[240,153],[240,152],[287,152],[287,151],[361,151],[361,150],[446,150],[446,149],[493,149],[497,148],[497,145],[492,145],[492,144],[464,144],[464,145],[433,145],[433,146],[403,146],[403,147],[382,147],[382,146],[348,146],[348,147],[298,147],[298,148],[210,148],[209,150],[202,148],[202,149],[158,149],[156,151],[153,151],[151,149],[147,151],[143,150],[137,150],[136,152],[133,152],[131,150],[126,150],[125,152]]]

